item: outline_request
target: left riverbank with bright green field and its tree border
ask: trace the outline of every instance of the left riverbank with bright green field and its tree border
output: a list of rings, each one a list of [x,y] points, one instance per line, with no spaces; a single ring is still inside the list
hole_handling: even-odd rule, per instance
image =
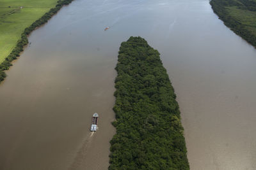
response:
[[[62,0],[58,2],[56,2],[56,0],[47,0],[44,1],[44,3],[41,1],[10,2],[6,0],[1,3],[0,82],[6,77],[4,70],[12,66],[12,60],[17,59],[20,52],[23,51],[23,47],[28,45],[27,36],[30,32],[35,30],[36,27],[45,24],[45,22],[47,22],[52,15],[57,13],[63,5],[71,2],[72,0]],[[36,18],[39,19],[36,20]]]

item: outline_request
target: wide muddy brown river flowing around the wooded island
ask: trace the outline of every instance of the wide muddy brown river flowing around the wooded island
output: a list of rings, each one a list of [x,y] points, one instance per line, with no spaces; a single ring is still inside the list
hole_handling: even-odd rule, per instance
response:
[[[75,0],[33,31],[0,84],[0,169],[108,168],[114,68],[129,36],[161,53],[191,169],[256,169],[256,50],[207,0]]]

